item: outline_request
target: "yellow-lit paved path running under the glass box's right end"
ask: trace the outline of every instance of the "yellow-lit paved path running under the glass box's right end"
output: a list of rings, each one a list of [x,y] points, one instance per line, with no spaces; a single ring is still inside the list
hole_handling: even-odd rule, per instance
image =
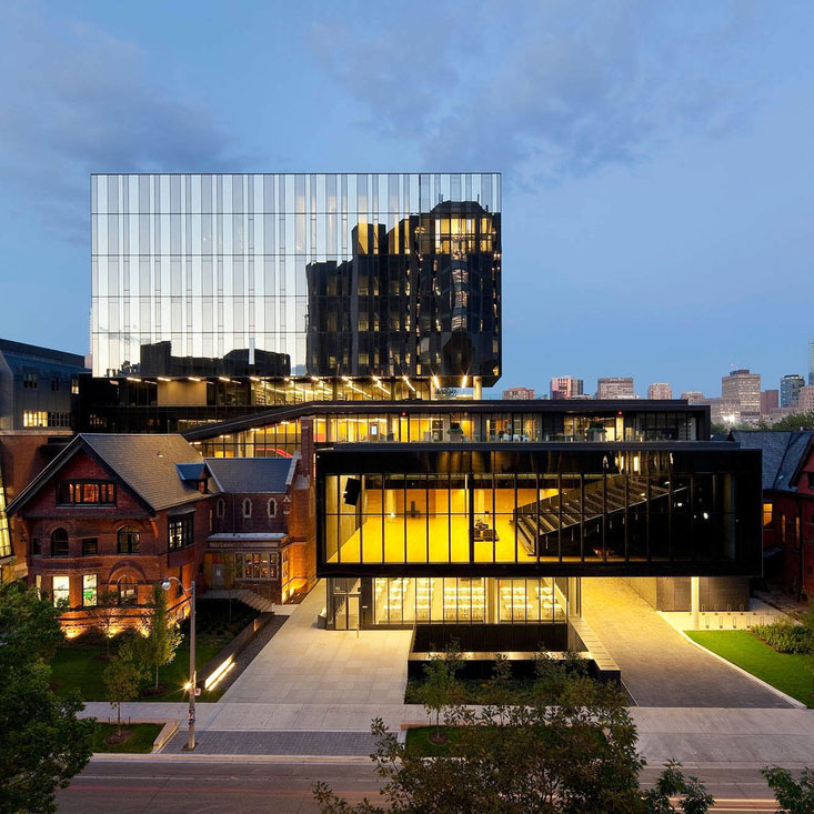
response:
[[[620,579],[583,579],[582,614],[639,706],[790,706],[684,639]]]

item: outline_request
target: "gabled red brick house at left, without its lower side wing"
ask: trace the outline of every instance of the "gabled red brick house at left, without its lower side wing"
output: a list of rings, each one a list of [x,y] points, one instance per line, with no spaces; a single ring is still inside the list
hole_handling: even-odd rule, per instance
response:
[[[97,624],[103,591],[118,595],[121,627],[139,623],[154,583],[188,587],[202,572],[211,501],[203,459],[180,435],[80,434],[7,511],[22,527],[29,581],[68,600],[70,636]],[[187,604],[173,590],[172,612]]]

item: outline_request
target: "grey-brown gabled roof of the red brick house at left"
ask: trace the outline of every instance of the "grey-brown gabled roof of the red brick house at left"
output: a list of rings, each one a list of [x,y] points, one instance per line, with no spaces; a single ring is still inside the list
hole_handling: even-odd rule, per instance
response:
[[[153,513],[203,496],[197,481],[180,476],[178,464],[203,465],[201,453],[181,435],[81,433],[9,503],[8,513],[19,511],[80,450],[110,470]]]

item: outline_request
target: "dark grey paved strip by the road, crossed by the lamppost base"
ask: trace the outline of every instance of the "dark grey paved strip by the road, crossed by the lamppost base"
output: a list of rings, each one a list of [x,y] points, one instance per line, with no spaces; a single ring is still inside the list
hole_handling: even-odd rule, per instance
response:
[[[182,754],[187,732],[180,731],[163,754]],[[375,751],[370,732],[234,732],[210,730],[198,735],[195,754],[369,756]]]

